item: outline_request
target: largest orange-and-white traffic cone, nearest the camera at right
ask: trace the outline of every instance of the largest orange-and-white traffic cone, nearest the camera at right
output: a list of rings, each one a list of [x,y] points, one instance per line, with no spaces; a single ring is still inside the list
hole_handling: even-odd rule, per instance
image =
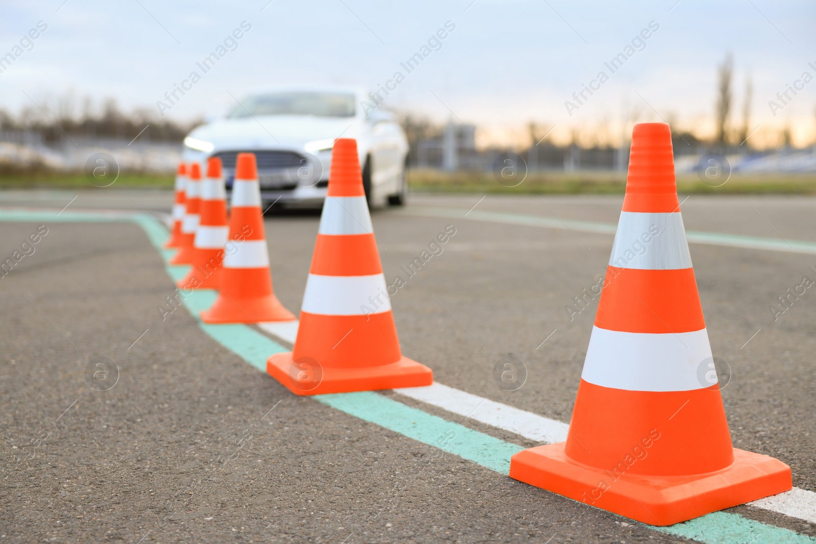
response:
[[[735,449],[677,201],[672,135],[640,123],[566,442],[510,477],[652,525],[782,493],[791,468]]]

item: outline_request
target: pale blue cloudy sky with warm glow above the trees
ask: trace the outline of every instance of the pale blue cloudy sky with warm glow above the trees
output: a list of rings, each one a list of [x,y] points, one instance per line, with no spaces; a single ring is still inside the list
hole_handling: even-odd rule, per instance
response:
[[[814,22],[807,0],[3,0],[0,56],[21,54],[0,73],[0,108],[73,92],[188,121],[269,86],[388,84],[385,108],[473,123],[481,144],[523,144],[530,122],[557,142],[614,143],[632,122],[661,120],[710,137],[716,67],[731,54],[732,126],[750,77],[752,144],[789,126],[804,146],[816,141],[816,81],[802,79],[816,79]],[[214,51],[224,55],[204,73],[197,63]],[[415,53],[425,56],[409,72]],[[605,63],[620,53],[613,73]],[[193,71],[200,81],[170,104],[165,93]]]

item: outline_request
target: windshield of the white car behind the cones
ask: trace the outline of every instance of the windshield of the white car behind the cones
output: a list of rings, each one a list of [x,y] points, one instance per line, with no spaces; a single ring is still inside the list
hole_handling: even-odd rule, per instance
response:
[[[354,117],[354,95],[333,92],[279,92],[255,95],[243,100],[230,119],[258,115],[314,115],[317,117]]]

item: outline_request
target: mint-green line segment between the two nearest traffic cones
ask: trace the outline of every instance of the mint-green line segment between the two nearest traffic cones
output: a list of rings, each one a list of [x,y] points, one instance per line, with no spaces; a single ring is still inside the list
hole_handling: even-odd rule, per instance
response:
[[[510,473],[512,454],[524,449],[371,391],[317,395],[314,399],[503,475]]]

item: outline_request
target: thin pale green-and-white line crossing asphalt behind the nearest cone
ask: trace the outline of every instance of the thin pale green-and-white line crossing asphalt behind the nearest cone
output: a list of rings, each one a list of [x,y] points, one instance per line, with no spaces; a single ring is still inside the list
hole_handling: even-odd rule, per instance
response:
[[[393,210],[388,213],[396,215],[421,215],[426,217],[443,217],[446,219],[468,219],[488,223],[507,223],[526,227],[556,228],[559,230],[576,230],[596,234],[612,234],[617,231],[614,223],[597,223],[595,221],[574,221],[552,219],[543,215],[524,215],[499,211],[470,212],[467,218],[464,210],[458,208],[437,208],[433,206],[409,206],[404,210]],[[774,238],[747,237],[724,232],[685,231],[685,238],[690,243],[706,245],[725,245],[749,250],[783,251],[785,253],[816,254],[816,242],[803,240],[776,240]]]

